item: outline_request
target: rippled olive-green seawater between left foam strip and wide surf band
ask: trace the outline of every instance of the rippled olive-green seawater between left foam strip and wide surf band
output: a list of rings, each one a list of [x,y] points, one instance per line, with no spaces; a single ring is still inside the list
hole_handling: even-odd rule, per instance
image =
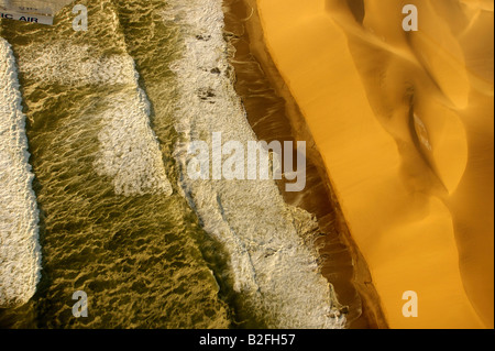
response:
[[[222,270],[215,253],[220,249],[184,197],[177,189],[170,197],[117,195],[112,179],[95,171],[98,135],[106,123],[96,116],[109,108],[102,97],[129,86],[114,84],[112,76],[87,81],[72,72],[95,58],[135,59],[167,176],[175,185],[170,153],[176,134],[169,116],[175,77],[168,64],[180,56],[180,29],[162,20],[165,1],[79,3],[88,7],[90,31],[73,30],[70,6],[58,13],[54,26],[1,23],[1,36],[18,59],[29,121],[43,272],[28,305],[0,310],[0,326],[227,328],[229,307],[219,297],[211,270]],[[72,315],[76,290],[88,294],[88,318]]]

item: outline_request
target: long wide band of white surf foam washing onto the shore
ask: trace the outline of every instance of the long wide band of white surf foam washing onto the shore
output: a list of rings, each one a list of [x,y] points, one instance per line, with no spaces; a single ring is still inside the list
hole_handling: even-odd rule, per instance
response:
[[[234,289],[273,328],[342,328],[336,317],[332,288],[317,265],[316,250],[304,243],[317,228],[311,216],[288,207],[273,180],[191,180],[187,143],[212,132],[223,142],[256,140],[244,109],[227,77],[221,0],[170,0],[164,21],[179,21],[184,57],[172,65],[180,92],[175,107],[182,142],[175,157],[180,186],[205,229],[229,251]],[[170,23],[172,25],[172,23]],[[221,74],[215,74],[219,68]],[[210,91],[208,99],[201,91]],[[201,97],[204,99],[201,99]],[[338,315],[338,314],[337,314]]]

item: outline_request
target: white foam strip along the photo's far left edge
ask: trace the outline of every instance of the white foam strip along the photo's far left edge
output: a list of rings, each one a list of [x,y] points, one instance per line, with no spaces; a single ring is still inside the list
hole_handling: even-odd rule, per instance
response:
[[[1,37],[0,81],[0,307],[8,307],[34,295],[41,249],[15,59]]]

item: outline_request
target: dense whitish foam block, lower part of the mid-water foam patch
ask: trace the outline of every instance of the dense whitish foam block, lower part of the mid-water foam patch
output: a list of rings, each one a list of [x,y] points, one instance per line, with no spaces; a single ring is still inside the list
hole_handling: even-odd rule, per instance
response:
[[[100,157],[95,163],[98,174],[111,177],[119,195],[172,195],[144,91],[131,88],[105,100],[107,109],[97,116],[103,125],[98,134]]]

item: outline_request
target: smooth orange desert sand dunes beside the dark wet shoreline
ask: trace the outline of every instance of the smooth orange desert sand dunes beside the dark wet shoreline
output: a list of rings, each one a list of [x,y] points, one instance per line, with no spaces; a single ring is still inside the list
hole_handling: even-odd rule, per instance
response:
[[[493,328],[493,1],[257,7],[389,327]]]

